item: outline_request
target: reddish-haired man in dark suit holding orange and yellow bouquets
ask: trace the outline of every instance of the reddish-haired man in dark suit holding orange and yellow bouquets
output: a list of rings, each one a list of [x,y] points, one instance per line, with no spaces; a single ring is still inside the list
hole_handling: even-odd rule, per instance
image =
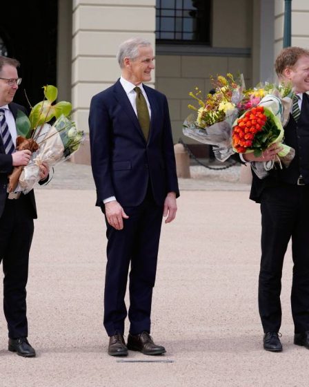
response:
[[[281,274],[283,258],[292,238],[293,280],[292,317],[294,343],[309,349],[309,50],[289,47],[281,51],[275,62],[281,82],[291,82],[295,97],[284,142],[295,149],[295,158],[288,168],[272,169],[264,179],[252,173],[250,198],[261,203],[261,269],[259,273],[259,313],[263,325],[263,346],[266,350],[282,350]],[[280,150],[277,144],[261,158],[245,154],[247,161],[267,161]]]

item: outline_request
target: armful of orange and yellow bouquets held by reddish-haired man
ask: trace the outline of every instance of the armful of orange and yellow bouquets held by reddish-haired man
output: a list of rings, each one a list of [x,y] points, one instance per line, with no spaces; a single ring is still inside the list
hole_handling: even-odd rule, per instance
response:
[[[242,78],[241,78],[242,79]],[[183,134],[213,146],[215,157],[227,160],[235,152],[255,152],[259,156],[270,144],[283,141],[283,126],[288,122],[292,104],[290,85],[259,84],[246,90],[234,77],[217,77],[215,93],[204,102],[197,93],[189,93],[199,102],[197,118],[190,115],[183,123]],[[259,178],[267,176],[275,161],[288,167],[294,149],[281,143],[283,150],[272,162],[252,162]]]

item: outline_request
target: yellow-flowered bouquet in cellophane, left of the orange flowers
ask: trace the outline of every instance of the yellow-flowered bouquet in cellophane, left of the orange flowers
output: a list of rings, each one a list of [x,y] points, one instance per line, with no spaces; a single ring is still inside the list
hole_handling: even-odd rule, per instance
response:
[[[242,75],[235,82],[234,77],[218,76],[213,79],[214,92],[207,95],[206,100],[199,98],[201,93],[189,93],[199,103],[199,108],[189,105],[197,111],[197,117],[189,115],[183,122],[183,134],[189,138],[213,146],[215,157],[226,161],[235,153],[232,149],[232,123],[239,115],[237,104],[243,99],[244,82]]]

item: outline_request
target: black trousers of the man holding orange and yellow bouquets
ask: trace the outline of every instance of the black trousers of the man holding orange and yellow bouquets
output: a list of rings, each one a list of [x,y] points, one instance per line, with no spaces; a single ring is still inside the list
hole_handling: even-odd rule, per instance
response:
[[[309,186],[266,188],[261,196],[259,314],[264,332],[281,326],[283,258],[292,238],[291,307],[295,333],[309,330]]]

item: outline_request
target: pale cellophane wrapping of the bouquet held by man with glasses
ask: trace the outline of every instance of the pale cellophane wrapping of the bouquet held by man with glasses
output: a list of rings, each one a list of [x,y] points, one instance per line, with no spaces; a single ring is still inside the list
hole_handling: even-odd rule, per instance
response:
[[[67,160],[83,142],[83,131],[78,131],[74,122],[61,115],[53,125],[44,124],[34,133],[39,149],[32,153],[30,162],[23,168],[17,191],[28,193],[40,180],[40,165],[44,162],[51,169]]]

